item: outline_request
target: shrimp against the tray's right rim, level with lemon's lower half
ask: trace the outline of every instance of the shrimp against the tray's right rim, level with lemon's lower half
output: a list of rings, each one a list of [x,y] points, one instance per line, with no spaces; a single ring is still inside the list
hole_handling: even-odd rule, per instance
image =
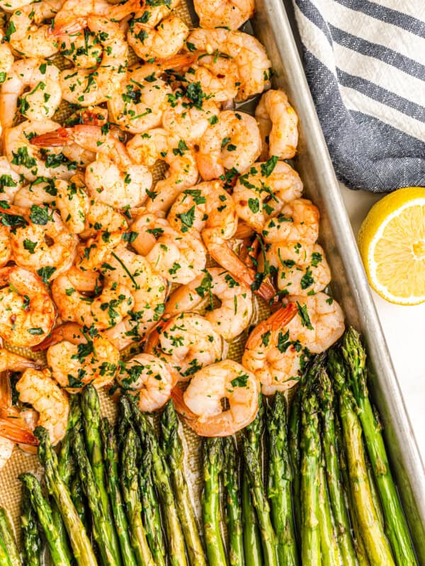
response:
[[[259,256],[259,267],[266,260],[276,272],[278,289],[283,294],[312,295],[323,291],[331,281],[331,271],[318,244],[272,243]]]

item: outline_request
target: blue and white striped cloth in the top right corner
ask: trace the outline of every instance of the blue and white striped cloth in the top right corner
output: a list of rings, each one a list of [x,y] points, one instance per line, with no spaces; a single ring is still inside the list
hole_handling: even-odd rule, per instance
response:
[[[336,175],[425,186],[425,0],[293,0]]]

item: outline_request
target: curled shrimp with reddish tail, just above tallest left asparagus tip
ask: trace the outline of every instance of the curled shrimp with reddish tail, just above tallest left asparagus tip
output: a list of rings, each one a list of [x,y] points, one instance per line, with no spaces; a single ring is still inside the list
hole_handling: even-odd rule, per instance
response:
[[[118,371],[120,352],[99,333],[75,323],[57,326],[35,350],[47,348],[52,377],[68,393],[79,393],[91,383],[109,385]]]

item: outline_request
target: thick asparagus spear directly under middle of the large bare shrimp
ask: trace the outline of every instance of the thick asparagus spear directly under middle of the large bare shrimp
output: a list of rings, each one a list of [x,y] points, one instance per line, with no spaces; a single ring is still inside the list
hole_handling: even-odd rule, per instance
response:
[[[203,439],[204,491],[202,498],[205,545],[210,566],[226,566],[226,553],[220,529],[220,471],[222,440]]]

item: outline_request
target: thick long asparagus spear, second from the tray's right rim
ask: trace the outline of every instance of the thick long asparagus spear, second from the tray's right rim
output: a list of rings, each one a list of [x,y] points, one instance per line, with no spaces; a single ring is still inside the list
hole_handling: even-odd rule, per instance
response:
[[[329,353],[329,370],[339,392],[339,415],[348,463],[351,494],[361,535],[372,566],[394,565],[390,546],[382,531],[368,480],[363,454],[361,424],[356,415],[356,402],[347,388],[345,370],[336,351]]]

